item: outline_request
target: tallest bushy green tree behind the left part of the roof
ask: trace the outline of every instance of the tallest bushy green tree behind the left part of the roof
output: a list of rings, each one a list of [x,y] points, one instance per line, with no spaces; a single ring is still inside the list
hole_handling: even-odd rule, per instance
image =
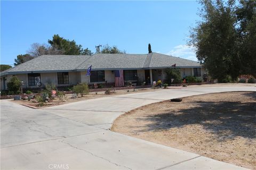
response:
[[[52,40],[48,43],[53,49],[58,50],[65,55],[92,55],[93,53],[88,48],[83,49],[82,45],[77,45],[75,40],[68,40],[59,35],[53,35]]]

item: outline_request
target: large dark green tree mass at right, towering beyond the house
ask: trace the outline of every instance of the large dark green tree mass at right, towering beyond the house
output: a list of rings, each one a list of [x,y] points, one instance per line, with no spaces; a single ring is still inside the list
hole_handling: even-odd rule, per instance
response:
[[[189,45],[212,78],[256,76],[256,1],[201,0],[202,21],[190,31]],[[225,23],[225,24],[224,24]]]

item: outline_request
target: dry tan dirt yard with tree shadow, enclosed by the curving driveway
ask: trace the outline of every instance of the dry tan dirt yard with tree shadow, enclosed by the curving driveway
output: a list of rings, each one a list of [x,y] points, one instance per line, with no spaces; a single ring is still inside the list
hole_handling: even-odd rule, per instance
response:
[[[111,130],[256,169],[256,92],[162,101],[119,116]]]

